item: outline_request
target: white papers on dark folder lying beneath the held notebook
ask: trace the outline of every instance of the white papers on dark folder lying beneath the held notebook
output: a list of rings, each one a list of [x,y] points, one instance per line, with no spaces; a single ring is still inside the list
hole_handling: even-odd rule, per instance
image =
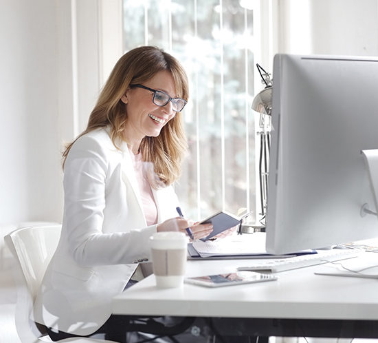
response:
[[[267,253],[265,250],[265,233],[245,233],[243,235],[233,235],[219,240],[203,242],[194,240],[194,249],[201,258],[216,256],[245,256],[267,258],[291,257],[293,255],[277,256]]]

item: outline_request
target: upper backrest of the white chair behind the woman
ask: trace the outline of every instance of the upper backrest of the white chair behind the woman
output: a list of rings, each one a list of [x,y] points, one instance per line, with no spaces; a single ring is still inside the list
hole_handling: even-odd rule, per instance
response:
[[[61,228],[61,225],[23,227],[4,237],[19,262],[32,300],[36,297],[47,265],[56,250]]]

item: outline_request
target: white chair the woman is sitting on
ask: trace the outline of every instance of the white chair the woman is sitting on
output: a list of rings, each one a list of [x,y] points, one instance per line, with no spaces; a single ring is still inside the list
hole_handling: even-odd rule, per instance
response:
[[[16,229],[4,237],[14,260],[14,278],[17,286],[16,331],[21,342],[52,342],[47,335],[41,335],[30,319],[34,299],[49,261],[60,238],[61,225],[41,225]],[[115,343],[87,337],[73,337],[60,343]]]

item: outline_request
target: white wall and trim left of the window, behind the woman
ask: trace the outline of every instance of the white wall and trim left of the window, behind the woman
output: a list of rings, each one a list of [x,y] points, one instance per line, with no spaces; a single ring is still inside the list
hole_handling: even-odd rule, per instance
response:
[[[105,0],[0,1],[0,225],[61,222],[60,156],[98,96]]]

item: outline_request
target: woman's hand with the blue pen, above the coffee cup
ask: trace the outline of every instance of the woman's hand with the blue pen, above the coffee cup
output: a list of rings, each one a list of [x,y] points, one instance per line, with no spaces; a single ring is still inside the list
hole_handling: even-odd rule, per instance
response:
[[[170,218],[157,225],[157,232],[161,231],[181,231],[186,235],[186,228],[190,227],[195,240],[199,238],[205,238],[212,232],[212,224],[198,224],[192,220],[188,220],[182,217]]]

